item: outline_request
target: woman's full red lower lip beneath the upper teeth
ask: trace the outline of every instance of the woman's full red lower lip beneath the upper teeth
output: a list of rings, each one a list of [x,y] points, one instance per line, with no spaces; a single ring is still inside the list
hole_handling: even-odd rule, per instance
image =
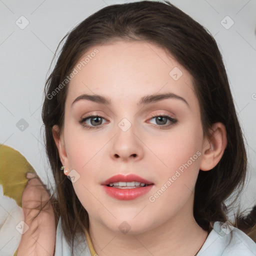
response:
[[[119,200],[132,200],[149,192],[153,184],[136,188],[117,188],[103,185],[105,192]]]

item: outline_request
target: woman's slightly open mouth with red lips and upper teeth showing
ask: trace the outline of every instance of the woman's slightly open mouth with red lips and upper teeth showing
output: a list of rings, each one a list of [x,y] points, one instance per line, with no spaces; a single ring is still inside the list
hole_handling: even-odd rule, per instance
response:
[[[146,194],[154,183],[136,174],[117,174],[105,180],[101,185],[111,197],[119,200],[131,200]]]

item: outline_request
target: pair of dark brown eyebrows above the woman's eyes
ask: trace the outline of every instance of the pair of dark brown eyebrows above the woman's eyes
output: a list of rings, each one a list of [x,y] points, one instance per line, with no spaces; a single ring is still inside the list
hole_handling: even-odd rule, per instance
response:
[[[161,93],[161,94],[151,94],[151,95],[146,95],[140,98],[140,101],[137,103],[137,105],[146,105],[146,104],[150,104],[153,102],[157,102],[163,99],[167,99],[167,98],[175,98],[175,99],[180,99],[182,100],[184,103],[186,103],[186,105],[188,107],[189,104],[187,103],[187,101],[172,93],[172,92],[167,92],[167,93]],[[96,103],[100,103],[100,104],[104,104],[104,105],[110,105],[111,104],[111,100],[108,97],[105,96],[101,96],[98,94],[93,94],[93,95],[89,95],[89,94],[81,94],[80,96],[78,96],[77,98],[75,98],[75,100],[72,102],[72,105],[74,104],[74,102],[81,100],[81,99],[85,99],[85,100],[90,100]]]

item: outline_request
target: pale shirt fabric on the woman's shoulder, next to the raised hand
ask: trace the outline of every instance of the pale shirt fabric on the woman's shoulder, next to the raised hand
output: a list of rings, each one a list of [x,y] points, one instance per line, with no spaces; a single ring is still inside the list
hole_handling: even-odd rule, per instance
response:
[[[86,243],[84,234],[77,235],[74,240],[73,252],[75,256],[90,256],[90,252]],[[63,229],[61,227],[61,217],[59,217],[57,230],[56,230],[56,242],[55,242],[55,256],[71,256],[71,247],[65,239]]]

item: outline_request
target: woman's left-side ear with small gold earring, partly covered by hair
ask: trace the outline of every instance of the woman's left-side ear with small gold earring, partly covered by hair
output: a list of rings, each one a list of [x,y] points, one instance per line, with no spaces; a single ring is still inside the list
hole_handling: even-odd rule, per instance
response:
[[[69,163],[68,163],[68,158],[66,154],[66,149],[65,149],[65,143],[62,134],[59,132],[59,127],[58,125],[53,125],[52,127],[52,135],[55,141],[55,144],[58,148],[58,154],[60,161],[63,166],[65,166],[65,170],[69,171]],[[67,175],[68,172],[64,172],[65,175]]]

